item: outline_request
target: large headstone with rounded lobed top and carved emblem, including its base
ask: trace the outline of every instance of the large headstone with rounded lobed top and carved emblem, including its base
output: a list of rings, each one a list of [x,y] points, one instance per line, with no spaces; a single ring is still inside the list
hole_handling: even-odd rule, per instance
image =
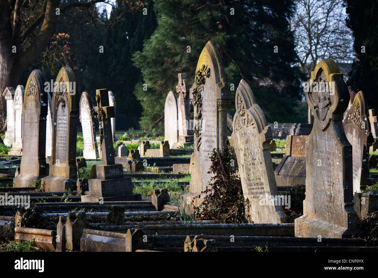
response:
[[[303,216],[295,219],[295,236],[358,236],[353,209],[352,146],[342,127],[349,92],[333,59],[323,59],[311,72],[305,92],[314,115],[306,140],[306,198]]]

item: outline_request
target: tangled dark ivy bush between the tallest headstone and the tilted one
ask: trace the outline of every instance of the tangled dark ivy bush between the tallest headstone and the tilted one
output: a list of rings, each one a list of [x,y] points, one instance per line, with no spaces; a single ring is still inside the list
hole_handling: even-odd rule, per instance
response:
[[[248,223],[245,211],[249,211],[249,202],[244,199],[242,183],[236,174],[235,150],[228,139],[226,147],[219,151],[214,149],[210,159],[212,164],[208,173],[214,176],[211,186],[201,193],[205,195],[204,201],[195,209],[195,213],[201,215],[198,219],[229,224]],[[192,202],[194,204],[195,199]]]

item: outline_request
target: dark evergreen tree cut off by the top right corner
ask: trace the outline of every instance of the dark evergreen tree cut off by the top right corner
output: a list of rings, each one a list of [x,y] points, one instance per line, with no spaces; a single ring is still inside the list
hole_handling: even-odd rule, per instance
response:
[[[353,48],[356,60],[353,61],[347,84],[352,90],[364,91],[369,109],[378,109],[378,44],[377,0],[347,0],[347,25],[355,37]]]

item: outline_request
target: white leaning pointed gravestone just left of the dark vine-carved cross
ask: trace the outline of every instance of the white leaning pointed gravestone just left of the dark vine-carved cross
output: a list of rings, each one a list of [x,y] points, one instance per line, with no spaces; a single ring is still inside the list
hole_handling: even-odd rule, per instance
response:
[[[92,116],[92,104],[87,92],[83,92],[80,98],[80,121],[83,130],[84,149],[83,156],[85,159],[97,159],[98,149],[96,142],[95,123]]]

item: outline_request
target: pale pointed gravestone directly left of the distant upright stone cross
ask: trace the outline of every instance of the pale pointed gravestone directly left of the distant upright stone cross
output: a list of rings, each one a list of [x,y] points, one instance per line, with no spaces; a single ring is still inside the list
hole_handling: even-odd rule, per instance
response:
[[[177,130],[177,101],[170,91],[164,106],[164,140],[169,141],[170,146],[177,144]]]

